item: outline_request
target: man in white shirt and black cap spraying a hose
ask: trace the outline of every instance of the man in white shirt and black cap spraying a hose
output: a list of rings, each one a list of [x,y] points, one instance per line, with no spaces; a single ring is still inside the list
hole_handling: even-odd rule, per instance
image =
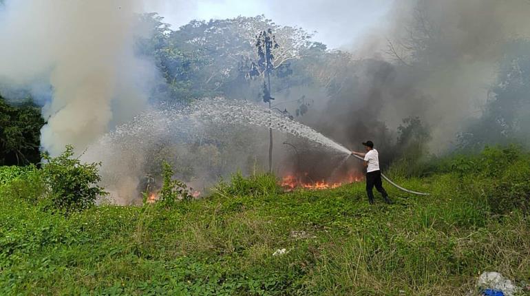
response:
[[[366,153],[352,151],[353,155],[364,157],[364,167],[366,167],[366,193],[368,194],[368,202],[374,204],[374,193],[372,189],[375,189],[383,195],[383,199],[387,204],[392,204],[392,200],[388,198],[383,188],[383,180],[381,180],[381,170],[379,169],[379,153],[374,149],[374,142],[366,141],[363,142]]]

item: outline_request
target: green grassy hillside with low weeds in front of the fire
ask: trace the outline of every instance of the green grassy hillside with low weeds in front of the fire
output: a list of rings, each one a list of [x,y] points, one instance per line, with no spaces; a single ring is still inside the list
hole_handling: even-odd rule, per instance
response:
[[[235,176],[169,209],[66,217],[16,175],[0,182],[1,295],[465,295],[483,271],[530,283],[530,156],[513,147],[394,173],[432,195],[386,184],[392,205],[370,206],[363,183],[282,193]]]

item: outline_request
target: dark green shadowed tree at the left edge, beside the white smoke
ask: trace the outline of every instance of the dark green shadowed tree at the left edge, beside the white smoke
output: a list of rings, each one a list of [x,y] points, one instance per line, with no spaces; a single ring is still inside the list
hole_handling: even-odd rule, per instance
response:
[[[30,101],[8,105],[0,96],[0,165],[29,165],[41,160],[39,107]]]

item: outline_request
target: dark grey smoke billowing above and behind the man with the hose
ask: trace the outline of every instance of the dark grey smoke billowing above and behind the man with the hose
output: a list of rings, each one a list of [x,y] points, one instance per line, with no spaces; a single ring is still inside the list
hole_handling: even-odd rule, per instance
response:
[[[528,135],[524,118],[529,112],[512,110],[521,109],[515,102],[528,102],[527,95],[497,107],[511,114],[490,113],[492,89],[506,85],[499,72],[507,47],[530,38],[529,15],[529,1],[395,1],[390,23],[366,34],[352,56],[337,54],[339,62],[328,63],[329,76],[334,75],[328,96],[315,98],[321,107],[301,120],[352,149],[362,149],[362,140],[374,140],[385,165],[404,153],[399,147],[404,143],[397,140],[404,118],[421,120],[430,131],[423,140],[435,154],[454,149],[458,136],[471,131],[470,123],[484,133],[491,130],[489,122],[500,121],[502,129],[510,118],[518,124],[519,138]],[[487,140],[502,142],[503,132],[491,130]],[[324,157],[316,151],[305,156],[308,163]],[[320,166],[315,173],[329,174],[335,165]]]

